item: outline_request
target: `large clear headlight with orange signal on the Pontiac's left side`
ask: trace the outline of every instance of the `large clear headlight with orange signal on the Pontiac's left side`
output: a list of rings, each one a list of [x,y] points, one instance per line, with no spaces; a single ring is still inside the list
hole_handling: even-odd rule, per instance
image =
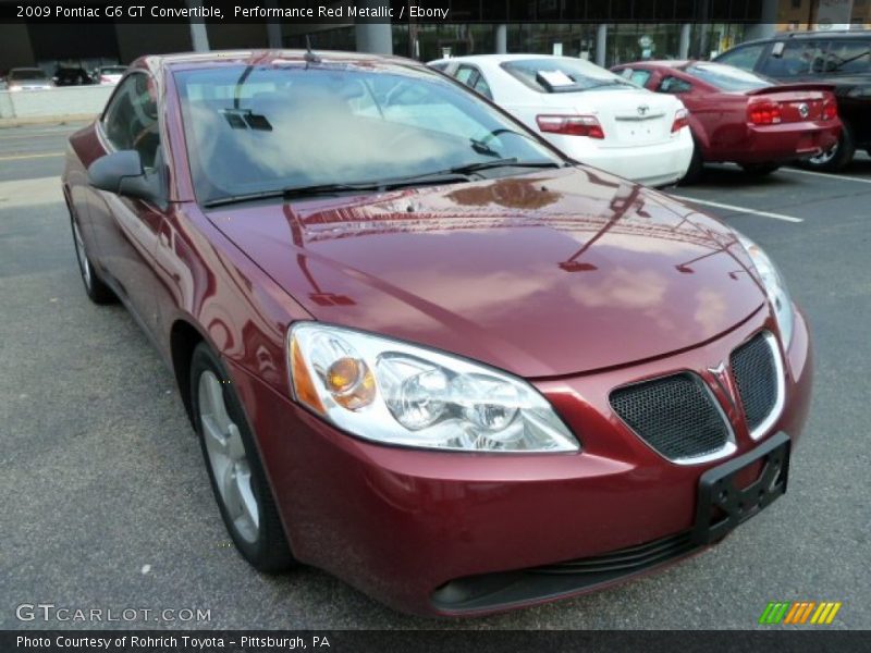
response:
[[[531,385],[483,365],[318,322],[287,333],[295,398],[359,438],[464,452],[577,452]]]

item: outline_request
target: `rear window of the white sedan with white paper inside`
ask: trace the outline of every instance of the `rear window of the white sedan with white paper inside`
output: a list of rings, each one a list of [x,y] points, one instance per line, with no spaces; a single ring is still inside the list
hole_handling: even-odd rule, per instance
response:
[[[636,88],[598,65],[582,59],[522,59],[500,64],[505,71],[539,93],[577,93],[593,88]]]

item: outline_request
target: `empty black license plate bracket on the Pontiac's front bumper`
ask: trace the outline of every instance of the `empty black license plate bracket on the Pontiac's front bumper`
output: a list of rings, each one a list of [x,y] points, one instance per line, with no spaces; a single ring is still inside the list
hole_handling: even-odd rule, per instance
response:
[[[786,493],[790,444],[786,433],[775,433],[753,451],[701,475],[694,542],[716,542]],[[741,470],[760,461],[759,477],[746,488],[737,486]]]

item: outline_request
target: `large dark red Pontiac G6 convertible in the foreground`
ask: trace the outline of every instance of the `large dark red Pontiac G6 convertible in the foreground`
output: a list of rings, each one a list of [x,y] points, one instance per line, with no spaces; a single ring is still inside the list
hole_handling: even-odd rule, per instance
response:
[[[765,254],[415,62],[142,59],[62,183],[88,296],[174,372],[260,570],[487,613],[786,490],[811,350]]]

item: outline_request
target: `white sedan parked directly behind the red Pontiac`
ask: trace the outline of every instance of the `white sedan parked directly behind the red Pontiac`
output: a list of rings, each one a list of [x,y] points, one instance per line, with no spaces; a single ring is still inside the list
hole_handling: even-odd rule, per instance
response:
[[[569,157],[650,186],[692,157],[686,110],[580,59],[486,54],[429,64],[477,90]]]

